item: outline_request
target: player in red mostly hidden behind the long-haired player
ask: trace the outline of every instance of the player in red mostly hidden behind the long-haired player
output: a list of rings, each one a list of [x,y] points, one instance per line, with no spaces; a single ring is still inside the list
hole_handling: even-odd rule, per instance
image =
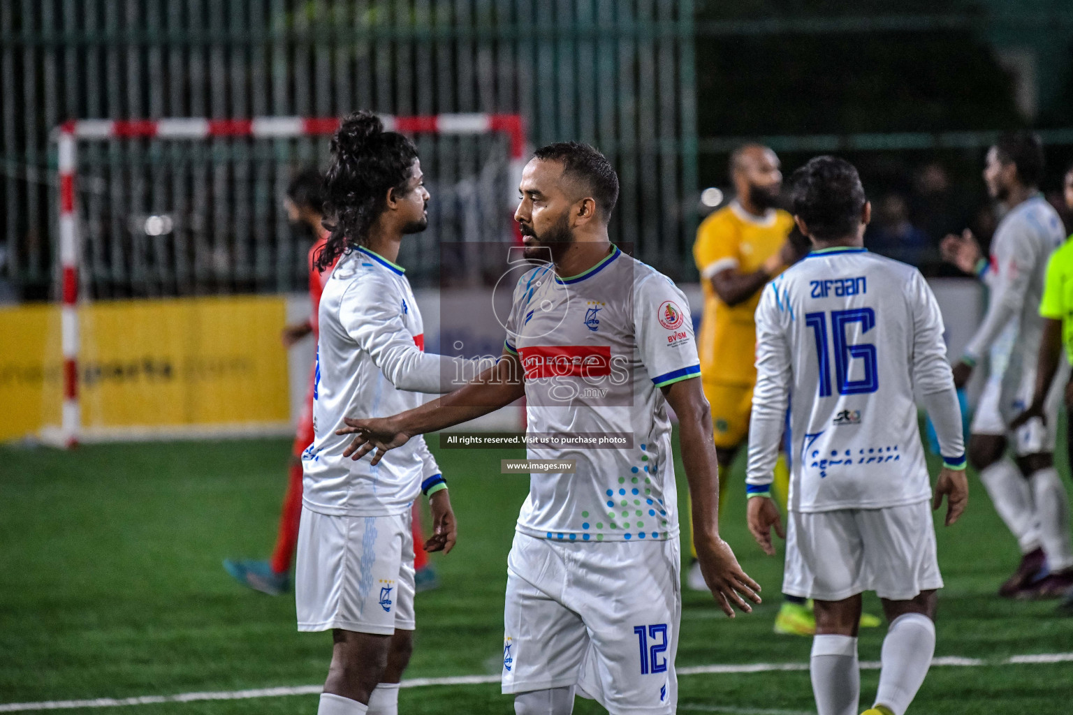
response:
[[[317,313],[321,304],[321,294],[324,291],[324,283],[332,274],[332,268],[335,267],[335,263],[333,263],[323,272],[317,270],[317,256],[324,248],[328,237],[328,232],[323,225],[323,177],[320,172],[312,168],[306,169],[295,177],[286,189],[286,199],[283,206],[286,209],[291,227],[299,235],[314,238],[314,241],[309,249],[307,260],[309,300],[312,312],[309,319],[283,327],[281,339],[284,347],[291,347],[310,333],[313,336],[314,345],[318,340]],[[306,391],[302,416],[298,418],[298,428],[289,466],[286,494],[283,496],[283,505],[279,516],[279,534],[276,537],[276,548],[273,550],[271,558],[268,561],[225,558],[223,561],[224,569],[239,583],[270,596],[284,593],[291,585],[291,565],[294,561],[294,548],[298,541],[298,521],[302,517],[302,452],[313,442],[314,369],[310,370],[309,389]],[[421,521],[416,502],[414,503],[413,532],[414,543],[424,543],[425,539],[421,536]],[[428,554],[422,548],[415,549],[414,570],[416,571],[414,580],[418,592],[435,589],[438,585],[436,574],[428,566]]]

